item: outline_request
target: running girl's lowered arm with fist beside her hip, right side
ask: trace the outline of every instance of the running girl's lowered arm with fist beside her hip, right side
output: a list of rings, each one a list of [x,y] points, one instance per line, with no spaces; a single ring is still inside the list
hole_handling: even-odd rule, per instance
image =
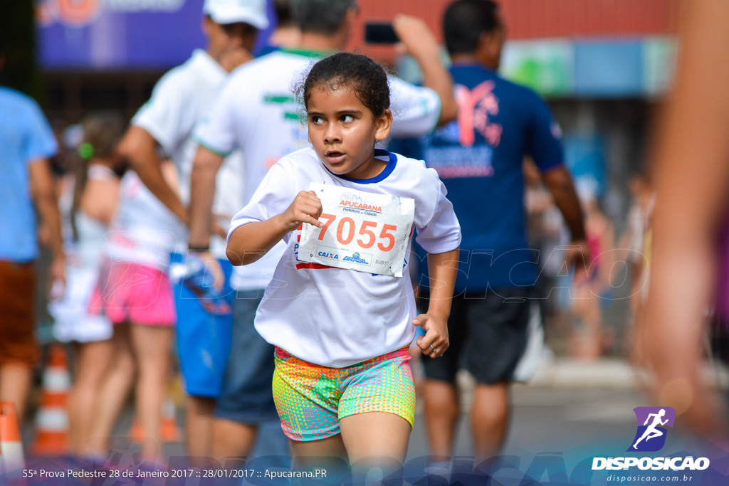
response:
[[[428,254],[430,299],[428,311],[413,319],[413,325],[425,329],[417,344],[426,356],[437,358],[445,353],[448,342],[448,316],[451,315],[453,287],[458,272],[459,248],[445,253]]]

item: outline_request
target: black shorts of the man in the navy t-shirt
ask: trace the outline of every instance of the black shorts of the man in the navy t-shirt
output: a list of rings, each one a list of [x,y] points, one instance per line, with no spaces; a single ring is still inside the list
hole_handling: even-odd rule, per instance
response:
[[[526,349],[531,295],[531,288],[521,288],[453,297],[451,346],[440,358],[423,356],[426,377],[455,383],[456,372],[466,369],[478,383],[511,382]],[[419,303],[425,312],[427,297]]]

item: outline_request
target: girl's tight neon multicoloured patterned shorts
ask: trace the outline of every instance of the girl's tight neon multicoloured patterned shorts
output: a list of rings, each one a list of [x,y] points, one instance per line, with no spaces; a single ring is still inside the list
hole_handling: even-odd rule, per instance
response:
[[[408,348],[346,368],[308,363],[276,348],[273,401],[284,434],[297,441],[339,434],[339,420],[389,412],[415,420],[415,386]]]

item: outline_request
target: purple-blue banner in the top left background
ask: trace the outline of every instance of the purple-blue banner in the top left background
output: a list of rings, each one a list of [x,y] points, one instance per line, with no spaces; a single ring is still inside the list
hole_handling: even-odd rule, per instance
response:
[[[171,68],[205,47],[202,11],[203,0],[40,0],[39,60],[45,69]]]

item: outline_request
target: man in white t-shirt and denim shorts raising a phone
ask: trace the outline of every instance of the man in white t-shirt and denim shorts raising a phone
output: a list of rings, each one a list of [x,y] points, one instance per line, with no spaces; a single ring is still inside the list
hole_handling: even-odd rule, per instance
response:
[[[208,246],[216,174],[225,155],[240,149],[245,156],[243,200],[248,203],[268,169],[290,152],[308,146],[301,107],[292,85],[303,82],[317,58],[340,50],[347,42],[358,10],[354,0],[292,0],[302,31],[300,47],[262,56],[232,74],[209,116],[195,130],[200,149],[192,169],[190,247]],[[394,136],[420,136],[455,119],[456,102],[440,48],[425,23],[398,16],[394,28],[424,72],[415,87],[391,78]],[[241,206],[242,207],[242,206]],[[231,283],[238,291],[233,308],[233,347],[225,390],[218,401],[214,454],[246,455],[257,426],[277,417],[271,393],[273,347],[255,332],[253,319],[263,289],[273,276],[283,243],[254,264],[236,267]],[[235,434],[219,431],[236,430]]]

